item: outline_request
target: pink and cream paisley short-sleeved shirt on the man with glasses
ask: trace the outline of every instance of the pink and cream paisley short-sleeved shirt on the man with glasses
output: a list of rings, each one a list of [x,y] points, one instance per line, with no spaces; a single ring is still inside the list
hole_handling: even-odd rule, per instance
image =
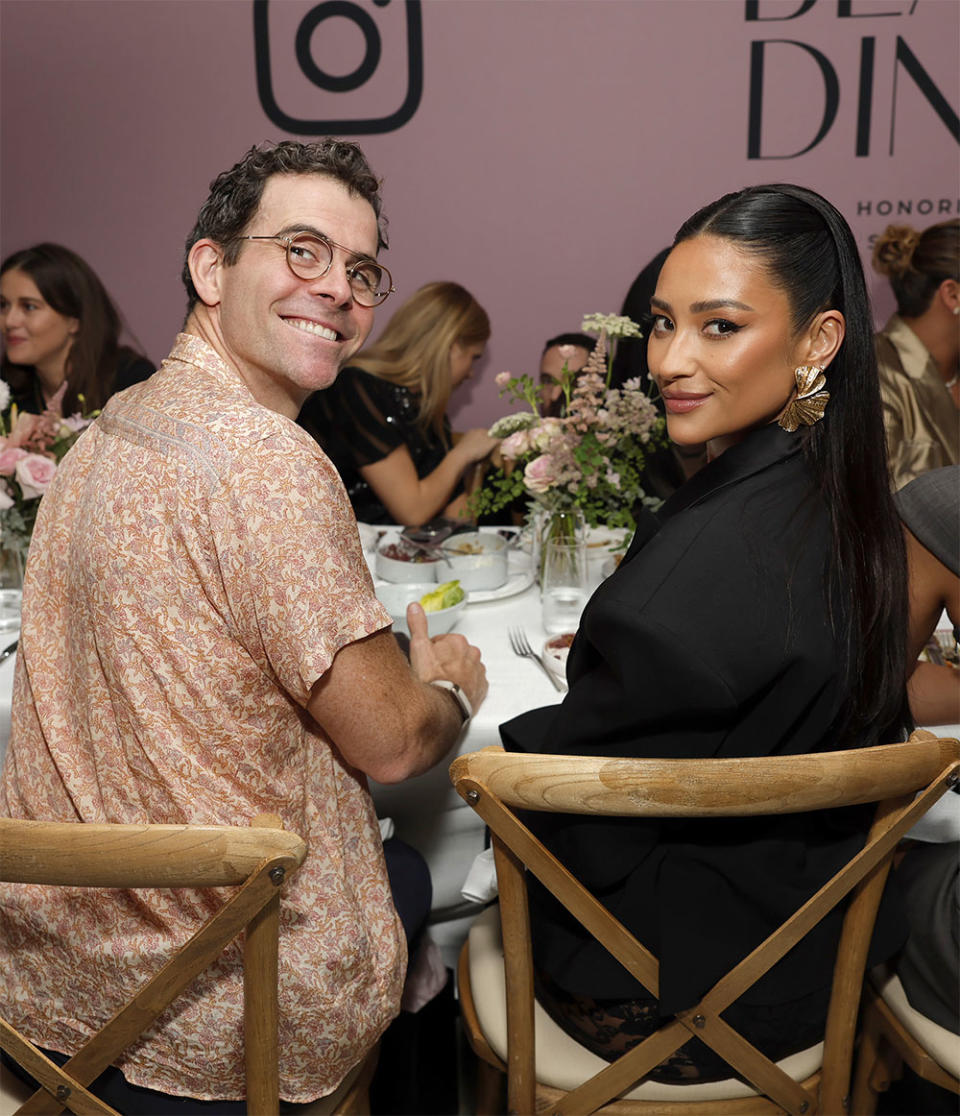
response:
[[[282,904],[280,1085],[332,1091],[396,1014],[405,965],[376,816],[305,711],[346,644],[390,623],[316,442],[196,337],[107,404],[44,498],[23,593],[0,810],[248,825],[309,853]],[[0,1013],[74,1052],[219,896],[0,885]],[[243,1095],[237,949],[119,1062]]]

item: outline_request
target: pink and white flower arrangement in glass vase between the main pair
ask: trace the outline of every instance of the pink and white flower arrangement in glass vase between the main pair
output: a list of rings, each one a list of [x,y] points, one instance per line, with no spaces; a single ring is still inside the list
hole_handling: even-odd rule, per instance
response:
[[[497,376],[500,394],[527,406],[490,427],[492,437],[502,439],[503,466],[489,472],[474,493],[476,514],[527,496],[547,516],[579,512],[591,527],[632,530],[640,506],[660,503],[644,492],[643,471],[646,454],[665,441],[663,419],[639,378],[609,386],[616,340],[640,337],[640,327],[620,315],[591,314],[580,328],[597,340],[582,371],[564,365],[559,417],[541,414],[530,376]]]

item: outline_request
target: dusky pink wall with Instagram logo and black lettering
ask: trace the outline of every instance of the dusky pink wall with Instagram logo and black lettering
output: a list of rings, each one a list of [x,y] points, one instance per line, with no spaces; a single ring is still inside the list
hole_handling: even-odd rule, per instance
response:
[[[282,110],[345,122],[399,109],[409,69],[401,0],[357,0],[383,54],[347,93],[311,85],[297,64],[297,29],[317,7],[268,4]],[[755,20],[750,7],[424,0],[420,105],[397,131],[357,138],[385,179],[394,298],[457,279],[490,312],[489,356],[454,397],[458,425],[499,414],[496,372],[534,369],[547,336],[578,328],[585,312],[617,310],[681,221],[727,190],[813,186],[865,249],[897,204],[921,228],[958,215],[960,4],[758,0]],[[2,253],[40,239],[76,249],[156,360],[181,323],[182,244],[207,184],[250,144],[288,134],[258,98],[252,27],[249,0],[0,3]],[[795,157],[748,157],[760,50],[759,154]],[[353,71],[363,52],[345,17],[311,40],[332,74]],[[795,154],[823,121],[824,70],[836,78],[835,121]],[[873,291],[885,317],[889,291],[879,279]]]

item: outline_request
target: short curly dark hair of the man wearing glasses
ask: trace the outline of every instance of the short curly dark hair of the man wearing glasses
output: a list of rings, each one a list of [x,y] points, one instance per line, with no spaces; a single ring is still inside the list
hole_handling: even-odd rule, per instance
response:
[[[323,174],[342,183],[352,194],[369,202],[376,214],[377,249],[387,247],[381,183],[355,143],[327,137],[314,143],[284,140],[278,144],[256,145],[210,183],[210,193],[186,238],[181,278],[186,288],[188,314],[199,299],[186,262],[190,249],[198,240],[209,239],[224,249],[223,262],[228,267],[236,263],[240,252],[237,238],[257,212],[263,186],[275,174]]]

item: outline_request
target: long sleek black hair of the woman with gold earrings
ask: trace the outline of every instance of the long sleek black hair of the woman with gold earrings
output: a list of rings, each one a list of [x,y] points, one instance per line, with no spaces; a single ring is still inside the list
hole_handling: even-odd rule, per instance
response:
[[[820,422],[805,429],[804,453],[833,525],[828,603],[846,647],[844,731],[883,731],[903,709],[906,557],[886,473],[873,316],[853,233],[812,190],[762,185],[707,205],[675,243],[700,235],[729,240],[762,262],[790,302],[796,334],[822,310],[844,316],[844,340],[827,369],[829,403]]]

